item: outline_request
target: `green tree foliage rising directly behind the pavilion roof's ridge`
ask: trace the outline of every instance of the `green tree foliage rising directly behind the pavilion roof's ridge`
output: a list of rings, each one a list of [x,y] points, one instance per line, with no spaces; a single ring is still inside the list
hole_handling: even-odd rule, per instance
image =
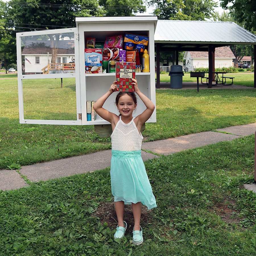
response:
[[[213,0],[150,0],[153,14],[160,20],[205,20],[214,14]]]

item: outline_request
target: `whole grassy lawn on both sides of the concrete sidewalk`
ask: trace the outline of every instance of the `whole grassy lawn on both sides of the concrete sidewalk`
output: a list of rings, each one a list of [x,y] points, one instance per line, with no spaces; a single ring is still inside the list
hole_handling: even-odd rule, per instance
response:
[[[1,168],[111,147],[93,127],[18,123],[16,79],[0,79]],[[64,88],[67,95],[72,86]],[[64,90],[63,90],[64,91]],[[157,90],[157,123],[147,140],[256,122],[255,89]],[[145,162],[157,208],[143,208],[144,242],[114,241],[110,168],[0,191],[0,256],[255,255],[254,135]],[[18,171],[18,170],[17,170]],[[13,170],[15,172],[15,170]]]

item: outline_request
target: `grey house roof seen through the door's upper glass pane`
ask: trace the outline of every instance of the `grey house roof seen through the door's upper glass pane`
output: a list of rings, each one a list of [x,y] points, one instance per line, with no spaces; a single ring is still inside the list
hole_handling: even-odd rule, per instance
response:
[[[74,40],[59,40],[58,54],[75,54]],[[50,40],[27,40],[22,55],[51,54]]]

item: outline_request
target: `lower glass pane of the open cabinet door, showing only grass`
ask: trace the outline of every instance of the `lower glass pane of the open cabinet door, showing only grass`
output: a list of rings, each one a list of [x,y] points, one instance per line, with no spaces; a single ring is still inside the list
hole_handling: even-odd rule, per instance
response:
[[[77,120],[75,78],[23,79],[22,87],[24,119]]]

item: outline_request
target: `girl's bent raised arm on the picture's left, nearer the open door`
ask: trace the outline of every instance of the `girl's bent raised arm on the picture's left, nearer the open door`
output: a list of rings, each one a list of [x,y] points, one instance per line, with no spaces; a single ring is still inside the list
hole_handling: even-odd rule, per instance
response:
[[[109,112],[108,110],[102,108],[104,102],[107,100],[107,98],[113,93],[117,91],[116,81],[113,82],[113,84],[110,86],[110,89],[108,92],[106,92],[103,96],[101,96],[93,105],[93,108],[95,112],[105,119],[106,121],[113,123],[113,118],[116,116],[116,114]]]

